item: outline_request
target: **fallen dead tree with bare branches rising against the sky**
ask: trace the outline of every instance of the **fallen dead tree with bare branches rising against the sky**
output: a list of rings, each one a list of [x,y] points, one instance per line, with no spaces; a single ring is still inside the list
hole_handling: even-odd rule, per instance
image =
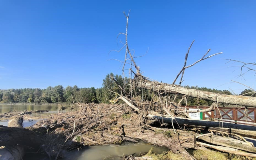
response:
[[[191,46],[194,43],[193,42],[190,44],[188,51],[185,55],[185,61],[184,61],[184,65],[182,67],[182,69],[180,70],[180,72],[177,74],[177,76],[175,77],[174,81],[172,84],[167,84],[167,83],[160,83],[157,81],[152,81],[149,78],[144,77],[141,72],[140,72],[140,67],[138,66],[138,64],[135,62],[134,60],[134,55],[132,55],[130,53],[129,50],[129,46],[128,46],[128,41],[127,41],[127,35],[128,35],[128,20],[129,20],[129,13],[128,15],[125,14],[124,15],[126,17],[126,32],[125,33],[119,33],[119,35],[125,35],[125,39],[126,39],[126,43],[124,44],[124,46],[120,49],[120,50],[116,50],[117,52],[120,52],[123,48],[126,48],[126,52],[125,52],[125,60],[124,60],[124,64],[123,64],[123,69],[122,71],[124,72],[125,70],[125,66],[127,64],[127,60],[130,60],[130,67],[129,67],[129,71],[131,74],[133,74],[133,79],[131,81],[131,92],[135,92],[136,89],[147,89],[150,90],[151,92],[153,92],[155,94],[156,100],[155,103],[156,105],[158,105],[159,108],[159,112],[161,113],[162,117],[159,117],[157,115],[151,115],[151,118],[153,117],[157,117],[161,122],[164,123],[164,121],[168,122],[168,123],[179,123],[178,121],[182,122],[182,123],[187,123],[189,120],[182,120],[179,118],[175,118],[175,115],[173,114],[173,112],[171,112],[171,110],[173,109],[175,113],[184,113],[185,116],[188,117],[188,112],[207,112],[207,111],[211,111],[212,109],[215,109],[215,107],[218,106],[218,103],[225,103],[225,104],[233,104],[233,105],[242,105],[242,106],[248,106],[248,107],[256,107],[256,97],[247,97],[247,96],[236,96],[236,95],[227,95],[227,94],[220,94],[220,93],[213,93],[213,92],[208,92],[208,91],[202,91],[202,90],[196,90],[196,89],[188,89],[188,88],[184,88],[181,86],[181,83],[183,82],[183,75],[185,72],[185,69],[189,68],[189,67],[193,67],[195,64],[199,63],[202,60],[211,58],[213,56],[222,54],[221,53],[216,53],[210,56],[207,56],[210,52],[211,49],[208,49],[207,52],[202,56],[202,58],[200,58],[199,60],[197,60],[196,62],[194,62],[193,64],[190,64],[187,66],[187,59],[188,59],[188,54],[189,51],[191,49]],[[244,65],[241,67],[241,71],[242,68],[247,68],[248,70],[253,70],[251,68],[248,68],[248,64],[253,64],[253,63],[244,63]],[[254,64],[255,65],[255,64]],[[134,72],[133,70],[136,70],[136,72]],[[253,70],[255,71],[255,70]],[[177,78],[180,78],[180,82],[179,85],[175,85],[175,82],[177,80]],[[130,76],[132,77],[132,76]],[[175,105],[174,103],[170,102],[169,100],[167,100],[167,95],[171,94],[179,94],[182,95],[182,99],[180,100],[180,102]],[[131,95],[131,94],[130,94]],[[187,97],[194,97],[197,99],[204,99],[204,100],[209,100],[212,101],[213,104],[212,106],[210,106],[209,108],[205,109],[205,110],[201,110],[201,111],[188,111],[186,108],[185,109],[181,109],[179,108],[180,103],[182,100],[186,101]],[[169,97],[168,97],[169,98]],[[174,99],[176,98],[176,96],[174,97]],[[116,102],[118,100],[123,100],[125,103],[127,103],[133,110],[135,110],[138,113],[145,113],[142,108],[140,108],[139,106],[142,105],[141,102],[137,102],[134,101],[131,97],[124,97],[123,95],[119,95],[119,97],[117,97],[115,100],[113,100],[112,102]],[[153,100],[153,98],[152,98]],[[151,105],[151,102],[148,103],[143,103],[143,105]],[[168,107],[169,106],[169,107]],[[148,110],[148,107],[144,107],[144,109],[147,108],[146,110]],[[165,113],[164,113],[165,112]],[[148,112],[146,112],[147,115]],[[164,115],[167,114],[168,117],[164,117]],[[173,122],[175,119],[175,122]],[[218,123],[218,122],[217,122]],[[217,123],[215,125],[215,127],[217,127]],[[205,125],[204,125],[205,124]],[[200,122],[195,122],[195,121],[189,121],[189,125],[201,125],[201,126],[206,126],[206,127],[211,127],[209,126],[208,122],[205,123],[200,123]],[[227,128],[234,128],[234,126],[230,126],[227,125],[226,123],[222,123],[222,127],[227,127]],[[239,126],[239,129],[244,129],[243,126]]]

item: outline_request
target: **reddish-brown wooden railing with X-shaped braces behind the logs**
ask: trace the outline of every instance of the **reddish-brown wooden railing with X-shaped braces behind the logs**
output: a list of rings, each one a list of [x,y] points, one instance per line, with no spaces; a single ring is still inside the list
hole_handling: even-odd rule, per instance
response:
[[[185,106],[181,106],[185,107]],[[206,109],[209,106],[186,106],[187,108],[198,108]],[[247,111],[246,111],[247,110]],[[246,111],[246,112],[245,112]],[[244,124],[250,126],[256,126],[256,108],[240,107],[240,108],[230,108],[230,107],[218,107],[209,112],[202,112],[202,119],[214,118],[217,120],[222,119],[223,121],[232,122],[235,124]]]

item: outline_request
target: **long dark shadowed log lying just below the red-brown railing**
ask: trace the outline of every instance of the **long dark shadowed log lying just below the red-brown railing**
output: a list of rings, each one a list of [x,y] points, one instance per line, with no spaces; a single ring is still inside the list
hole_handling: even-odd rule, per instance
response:
[[[172,123],[172,118],[166,118],[162,116],[154,116],[151,114],[147,115],[148,118],[154,119],[154,120],[162,120],[164,123]],[[241,130],[248,130],[248,131],[256,131],[255,126],[246,126],[246,125],[240,125],[240,124],[234,124],[229,122],[218,122],[218,121],[209,121],[209,120],[196,120],[196,119],[189,119],[189,118],[182,118],[182,117],[175,117],[175,120],[173,120],[174,124],[179,125],[195,125],[195,126],[205,126],[205,127],[221,127],[223,128],[232,128],[232,129],[241,129]],[[223,126],[222,126],[223,123]]]

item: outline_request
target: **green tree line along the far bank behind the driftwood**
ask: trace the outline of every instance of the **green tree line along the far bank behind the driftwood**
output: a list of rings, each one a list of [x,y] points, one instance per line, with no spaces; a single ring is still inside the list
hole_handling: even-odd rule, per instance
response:
[[[122,77],[121,75],[114,75],[112,72],[106,75],[103,79],[102,87],[95,89],[95,87],[90,88],[79,88],[76,85],[71,87],[67,86],[64,88],[62,85],[55,87],[49,86],[46,89],[40,88],[24,88],[24,89],[1,89],[0,90],[0,103],[109,103],[117,97],[117,94],[126,93],[122,91],[118,85],[122,88],[126,86],[125,89],[129,90],[130,85],[124,85],[124,83],[129,83],[128,77]],[[232,93],[228,90],[217,90],[210,89],[206,87],[198,86],[183,86],[184,88],[198,89],[202,91],[210,91],[214,93],[229,94]],[[112,91],[112,92],[111,92]],[[138,90],[139,95],[143,95],[144,100],[151,101],[152,94],[150,90]],[[256,96],[252,95],[250,89],[245,89],[240,93],[244,96]],[[128,97],[128,95],[125,95]],[[197,100],[196,98],[188,97],[187,105],[204,105],[209,106],[212,102],[207,100]]]

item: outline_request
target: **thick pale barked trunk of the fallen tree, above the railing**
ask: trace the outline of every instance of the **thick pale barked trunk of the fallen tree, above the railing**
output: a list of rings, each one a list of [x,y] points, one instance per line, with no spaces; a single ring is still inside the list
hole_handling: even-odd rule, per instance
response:
[[[142,75],[136,75],[133,79],[133,82],[138,88],[146,88],[154,90],[158,93],[180,93],[187,96],[210,100],[218,101],[220,103],[234,104],[234,105],[244,105],[250,107],[256,107],[256,97],[249,96],[234,96],[220,93],[213,93],[208,91],[201,91],[196,89],[183,88],[179,85],[171,85],[167,83],[153,82],[146,79]]]

